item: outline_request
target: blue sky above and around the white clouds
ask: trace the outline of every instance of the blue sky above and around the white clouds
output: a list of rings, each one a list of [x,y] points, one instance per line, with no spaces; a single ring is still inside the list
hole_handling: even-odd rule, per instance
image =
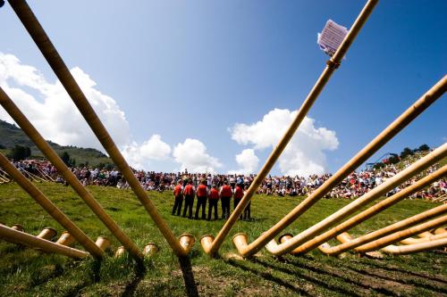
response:
[[[151,157],[139,160],[139,165],[172,170],[188,165],[183,159],[194,159],[189,154],[194,148],[200,151],[198,159],[205,154],[211,158],[208,162],[220,163],[222,166],[215,168],[220,172],[240,168],[235,155],[244,149],[253,149],[257,156],[256,163],[250,155],[249,169],[259,169],[271,146],[256,143],[253,136],[238,143],[234,125],[242,123],[249,128],[274,109],[298,109],[327,60],[316,45],[316,33],[328,19],[349,29],[364,4],[30,2],[69,68],[88,74],[96,82],[95,90],[112,98],[123,112],[128,125],[123,130],[129,137],[117,143],[135,144],[127,155],[146,152]],[[308,150],[294,160],[302,164],[306,158],[315,158],[325,171],[334,172],[443,78],[447,64],[445,11],[445,1],[379,2],[347,59],[308,113],[315,120],[309,129],[316,136],[299,143],[298,135],[297,151],[289,157]],[[34,67],[47,82],[55,83],[54,74],[9,4],[0,9],[0,24],[4,28],[0,52],[13,54],[21,65]],[[45,100],[36,87],[11,77],[9,87],[21,88],[37,101]],[[23,104],[29,109],[30,105]],[[446,108],[444,96],[372,159],[386,152],[399,153],[404,146],[443,144]],[[33,112],[28,112],[33,120]],[[321,136],[318,128],[334,132],[328,136],[331,144],[315,143]],[[161,145],[164,153],[154,152],[154,147],[139,150],[139,145],[154,135],[159,137],[152,138],[157,140],[152,144]],[[44,136],[59,139],[55,131],[46,131]],[[333,144],[334,137],[338,145]],[[187,138],[203,146],[186,145]],[[175,151],[178,144],[184,144],[182,154],[181,147],[180,153]],[[318,152],[313,155],[314,149],[307,148]],[[274,169],[274,173],[280,172],[287,170]]]

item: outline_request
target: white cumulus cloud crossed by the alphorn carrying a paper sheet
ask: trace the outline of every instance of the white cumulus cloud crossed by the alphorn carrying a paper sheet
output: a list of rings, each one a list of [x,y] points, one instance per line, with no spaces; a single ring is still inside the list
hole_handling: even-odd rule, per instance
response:
[[[262,120],[247,125],[238,123],[230,131],[238,144],[253,145],[255,150],[273,148],[296,117],[298,111],[274,109]],[[295,136],[279,159],[279,168],[284,175],[308,176],[326,171],[325,151],[338,147],[333,130],[316,128],[315,120],[305,117]]]

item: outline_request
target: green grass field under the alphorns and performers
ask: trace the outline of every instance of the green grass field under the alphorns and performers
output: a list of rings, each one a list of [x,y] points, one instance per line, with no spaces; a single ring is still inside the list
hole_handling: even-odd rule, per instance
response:
[[[154,242],[161,251],[145,261],[139,271],[124,257],[115,260],[113,252],[121,245],[70,187],[36,184],[92,239],[98,235],[112,238],[113,251],[102,262],[72,260],[46,254],[13,243],[0,242],[0,296],[97,296],[153,295],[183,296],[276,296],[276,295],[445,295],[447,294],[447,257],[442,251],[417,255],[360,258],[354,253],[341,258],[327,257],[318,251],[306,256],[274,258],[265,250],[256,258],[236,256],[231,237],[249,234],[249,241],[266,231],[302,198],[256,196],[251,204],[253,221],[240,221],[223,243],[217,259],[210,259],[196,243],[190,260],[182,263],[173,256],[168,244],[152,223],[146,210],[131,191],[92,186],[89,190],[142,248]],[[175,235],[190,233],[216,235],[223,221],[190,220],[171,216],[173,195],[150,193],[149,197],[173,228]],[[0,185],[0,221],[25,227],[37,235],[43,227],[63,231],[28,194],[16,184]],[[298,234],[348,201],[322,200],[284,232]],[[352,234],[361,235],[434,207],[433,202],[403,201],[361,224]],[[195,206],[195,205],[194,205]],[[219,205],[220,207],[220,205]],[[334,242],[331,242],[334,243]],[[80,245],[75,247],[81,248]]]

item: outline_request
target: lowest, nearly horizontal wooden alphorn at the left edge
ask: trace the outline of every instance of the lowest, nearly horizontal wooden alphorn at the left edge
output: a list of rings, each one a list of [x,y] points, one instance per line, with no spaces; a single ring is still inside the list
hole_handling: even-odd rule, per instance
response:
[[[0,238],[10,243],[22,243],[31,247],[39,248],[45,252],[55,252],[71,258],[89,257],[89,252],[80,251],[71,247],[52,243],[46,239],[39,238],[13,228],[0,224]]]

